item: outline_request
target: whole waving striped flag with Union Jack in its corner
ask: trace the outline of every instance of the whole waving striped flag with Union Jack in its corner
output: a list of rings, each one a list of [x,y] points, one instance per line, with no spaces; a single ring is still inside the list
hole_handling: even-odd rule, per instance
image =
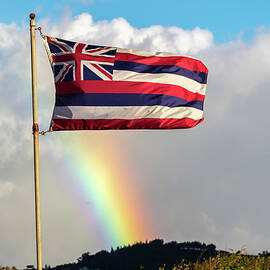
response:
[[[170,53],[45,36],[56,101],[51,130],[191,128],[203,121],[208,70]]]

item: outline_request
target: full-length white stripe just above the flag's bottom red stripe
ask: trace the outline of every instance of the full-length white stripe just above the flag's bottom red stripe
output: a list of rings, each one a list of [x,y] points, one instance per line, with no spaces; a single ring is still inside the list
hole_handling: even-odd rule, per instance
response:
[[[138,118],[202,119],[203,111],[191,107],[166,106],[56,106],[53,119],[138,119]]]

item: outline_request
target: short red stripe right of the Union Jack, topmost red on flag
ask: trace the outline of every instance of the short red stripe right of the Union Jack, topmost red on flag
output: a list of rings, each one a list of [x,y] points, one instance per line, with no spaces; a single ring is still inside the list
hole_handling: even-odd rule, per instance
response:
[[[189,70],[208,73],[207,67],[200,60],[185,56],[140,56],[116,52],[115,60],[136,62],[145,65],[176,65]]]

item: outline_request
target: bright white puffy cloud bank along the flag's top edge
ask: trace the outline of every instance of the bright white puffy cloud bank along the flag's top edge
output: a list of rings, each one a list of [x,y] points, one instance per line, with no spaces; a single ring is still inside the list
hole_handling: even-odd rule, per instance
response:
[[[156,25],[137,29],[124,18],[96,23],[88,13],[78,15],[74,19],[67,16],[60,26],[46,25],[46,31],[49,35],[92,44],[184,54],[196,54],[209,48],[213,43],[212,33],[199,27],[184,30],[178,27]]]

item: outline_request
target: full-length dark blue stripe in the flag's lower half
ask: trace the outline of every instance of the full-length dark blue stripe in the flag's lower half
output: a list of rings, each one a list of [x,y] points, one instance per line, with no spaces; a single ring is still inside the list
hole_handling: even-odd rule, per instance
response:
[[[55,106],[154,106],[193,107],[203,110],[203,101],[186,101],[160,94],[83,93],[56,95]]]

